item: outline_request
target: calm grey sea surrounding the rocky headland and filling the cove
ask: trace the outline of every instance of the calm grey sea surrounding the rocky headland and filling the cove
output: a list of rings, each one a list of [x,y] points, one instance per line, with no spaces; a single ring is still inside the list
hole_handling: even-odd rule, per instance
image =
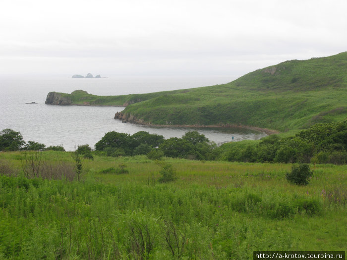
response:
[[[0,130],[11,128],[24,141],[48,146],[61,145],[73,151],[78,145],[94,145],[110,131],[134,134],[147,131],[165,138],[181,137],[197,130],[218,144],[265,136],[239,128],[154,127],[122,123],[114,119],[115,106],[58,106],[46,105],[51,91],[71,93],[81,89],[94,95],[126,95],[157,91],[187,89],[228,83],[235,77],[121,77],[71,78],[71,75],[0,75]],[[26,104],[35,102],[37,104]]]

